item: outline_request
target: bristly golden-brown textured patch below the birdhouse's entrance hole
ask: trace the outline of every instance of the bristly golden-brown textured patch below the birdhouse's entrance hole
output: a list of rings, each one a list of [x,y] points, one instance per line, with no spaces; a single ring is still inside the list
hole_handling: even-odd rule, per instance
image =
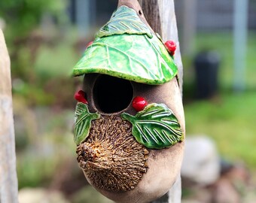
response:
[[[90,135],[77,147],[78,163],[93,186],[108,191],[133,189],[147,172],[148,150],[120,117],[93,120]]]

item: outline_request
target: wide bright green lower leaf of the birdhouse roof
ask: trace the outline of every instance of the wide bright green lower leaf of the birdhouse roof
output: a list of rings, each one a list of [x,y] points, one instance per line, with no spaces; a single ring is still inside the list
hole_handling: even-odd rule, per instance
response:
[[[172,80],[178,68],[155,35],[124,34],[98,38],[87,48],[73,74],[90,73],[155,85]]]

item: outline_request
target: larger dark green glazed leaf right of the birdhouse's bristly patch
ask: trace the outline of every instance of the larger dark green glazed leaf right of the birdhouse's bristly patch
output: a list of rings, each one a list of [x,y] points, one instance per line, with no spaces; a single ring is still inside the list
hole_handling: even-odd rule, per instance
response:
[[[183,140],[183,132],[172,111],[163,104],[151,104],[136,116],[123,113],[124,120],[133,124],[133,136],[151,149],[163,149]]]

